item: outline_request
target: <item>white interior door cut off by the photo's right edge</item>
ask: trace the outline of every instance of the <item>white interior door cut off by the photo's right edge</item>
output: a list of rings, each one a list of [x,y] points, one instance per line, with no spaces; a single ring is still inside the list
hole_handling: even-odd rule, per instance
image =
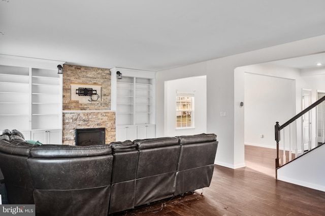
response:
[[[317,92],[317,100],[324,97],[325,93]],[[325,101],[317,106],[317,140],[325,143]]]

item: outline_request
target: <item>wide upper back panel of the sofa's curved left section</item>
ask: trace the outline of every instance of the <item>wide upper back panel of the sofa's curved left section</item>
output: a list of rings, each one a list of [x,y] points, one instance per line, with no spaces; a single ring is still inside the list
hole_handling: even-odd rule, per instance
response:
[[[27,159],[32,186],[38,190],[73,190],[111,184],[113,155]]]

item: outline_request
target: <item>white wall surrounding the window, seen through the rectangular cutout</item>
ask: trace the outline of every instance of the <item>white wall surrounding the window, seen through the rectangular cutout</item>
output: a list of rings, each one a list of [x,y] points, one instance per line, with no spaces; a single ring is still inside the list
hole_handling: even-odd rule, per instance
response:
[[[194,128],[176,129],[176,91],[194,94]],[[193,135],[207,131],[206,76],[188,77],[165,83],[165,137]]]

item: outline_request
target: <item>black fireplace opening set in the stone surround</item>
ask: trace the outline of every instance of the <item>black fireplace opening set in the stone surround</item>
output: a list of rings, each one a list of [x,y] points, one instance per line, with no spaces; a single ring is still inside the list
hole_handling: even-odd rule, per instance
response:
[[[76,146],[105,144],[105,127],[76,129]]]

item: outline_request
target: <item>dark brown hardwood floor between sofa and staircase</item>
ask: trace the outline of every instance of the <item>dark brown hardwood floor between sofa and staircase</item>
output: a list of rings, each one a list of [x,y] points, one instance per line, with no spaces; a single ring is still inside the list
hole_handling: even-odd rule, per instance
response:
[[[210,187],[113,215],[325,215],[325,192],[275,180],[275,156],[246,146],[246,167],[215,165]]]

